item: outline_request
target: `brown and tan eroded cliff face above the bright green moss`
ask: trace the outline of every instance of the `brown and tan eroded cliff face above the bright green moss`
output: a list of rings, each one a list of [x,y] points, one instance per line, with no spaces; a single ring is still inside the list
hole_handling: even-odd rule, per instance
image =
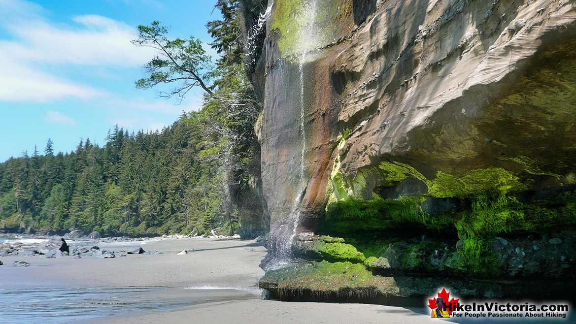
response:
[[[351,195],[369,199],[381,162],[429,179],[499,167],[533,188],[574,182],[575,1],[278,3],[260,60],[272,228],[298,201],[301,225],[315,230],[335,171]],[[331,29],[303,47],[286,19],[312,7],[328,12],[314,23]]]

